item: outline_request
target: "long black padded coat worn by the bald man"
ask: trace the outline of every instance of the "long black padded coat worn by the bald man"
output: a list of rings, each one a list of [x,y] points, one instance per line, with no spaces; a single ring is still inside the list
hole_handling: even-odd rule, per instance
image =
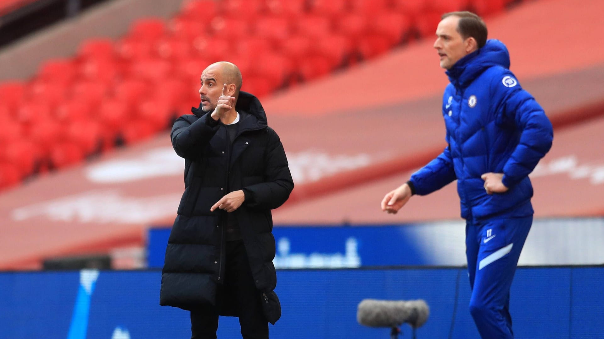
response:
[[[248,114],[241,115],[230,159],[226,128],[210,113],[192,109],[194,115],[181,116],[172,127],[174,150],[185,159],[185,191],[165,251],[160,305],[188,310],[214,305],[225,270],[226,212],[210,208],[239,189],[245,192],[245,201],[232,213],[241,228],[255,285],[260,291],[272,291],[277,285],[271,209],[288,199],[294,182],[283,145],[266,124],[260,101],[240,92],[236,109]],[[225,303],[233,301],[225,296]],[[238,315],[234,309],[220,305],[222,315]]]

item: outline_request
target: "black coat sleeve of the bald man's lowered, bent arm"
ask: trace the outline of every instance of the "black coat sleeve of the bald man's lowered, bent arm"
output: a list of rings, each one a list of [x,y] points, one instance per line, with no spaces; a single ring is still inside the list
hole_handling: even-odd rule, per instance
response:
[[[285,203],[294,189],[288,158],[277,133],[268,128],[269,142],[265,151],[265,182],[243,188],[249,208],[275,209]]]

